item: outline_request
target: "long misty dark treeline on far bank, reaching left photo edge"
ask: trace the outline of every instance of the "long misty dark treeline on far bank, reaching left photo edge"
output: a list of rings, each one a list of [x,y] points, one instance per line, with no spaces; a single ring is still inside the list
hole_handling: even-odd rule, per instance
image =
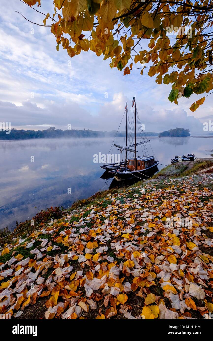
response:
[[[56,138],[56,137],[115,137],[116,130],[110,132],[107,131],[94,131],[90,129],[76,130],[68,129],[61,130],[50,127],[45,130],[17,130],[12,128],[10,133],[6,131],[0,131],[0,140],[24,140],[28,138]],[[125,132],[118,132],[117,137],[124,137]],[[158,133],[146,132],[146,136],[158,136]]]

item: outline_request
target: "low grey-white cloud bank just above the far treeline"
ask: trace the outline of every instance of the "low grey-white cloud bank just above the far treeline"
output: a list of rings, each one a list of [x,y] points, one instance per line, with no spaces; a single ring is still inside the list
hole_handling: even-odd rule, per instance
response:
[[[46,129],[54,125],[59,129],[67,129],[71,124],[74,129],[92,129],[101,131],[125,130],[125,102],[131,103],[122,92],[114,95],[112,101],[103,104],[97,113],[90,113],[81,107],[80,103],[66,100],[64,103],[46,101],[44,107],[38,107],[29,100],[22,106],[16,106],[10,102],[0,102],[1,120],[11,122],[11,127],[18,129]],[[187,116],[185,110],[176,108],[173,110],[161,109],[155,111],[150,106],[137,103],[138,116],[141,123],[145,124],[145,132],[160,132],[176,127],[189,129],[191,134],[202,134],[202,123],[193,116]],[[124,116],[123,116],[124,115]],[[132,122],[133,110],[129,105],[129,119]],[[134,119],[134,118],[133,118]]]

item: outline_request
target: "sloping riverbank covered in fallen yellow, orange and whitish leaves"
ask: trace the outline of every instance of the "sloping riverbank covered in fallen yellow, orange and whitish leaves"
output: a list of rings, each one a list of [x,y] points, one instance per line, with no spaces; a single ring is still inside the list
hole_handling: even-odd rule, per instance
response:
[[[14,238],[0,250],[0,313],[210,318],[212,172],[118,190]]]

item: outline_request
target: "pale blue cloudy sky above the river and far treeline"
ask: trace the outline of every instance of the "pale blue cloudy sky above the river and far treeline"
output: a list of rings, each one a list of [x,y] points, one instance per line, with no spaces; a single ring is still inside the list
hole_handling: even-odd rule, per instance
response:
[[[41,0],[43,13],[53,13],[53,0]],[[41,27],[44,16],[19,0],[1,0],[0,12],[0,121],[16,129],[40,130],[54,126],[101,131],[117,130],[128,102],[132,115],[135,95],[145,131],[160,132],[176,127],[191,135],[203,133],[203,122],[213,121],[212,95],[195,113],[190,105],[197,95],[168,100],[171,85],[157,85],[155,76],[133,70],[123,76],[92,51],[70,58],[56,50],[50,27]],[[51,19],[46,22],[51,25]],[[145,46],[147,42],[144,41]],[[143,48],[143,46],[142,46]],[[70,63],[71,62],[71,63]],[[145,69],[147,70],[147,69]],[[122,127],[121,127],[122,128]],[[124,129],[120,129],[124,130]]]

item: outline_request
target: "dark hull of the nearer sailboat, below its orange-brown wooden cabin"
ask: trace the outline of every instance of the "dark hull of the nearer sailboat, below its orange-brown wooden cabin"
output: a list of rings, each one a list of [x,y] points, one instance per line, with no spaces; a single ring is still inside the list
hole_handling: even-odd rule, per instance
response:
[[[111,171],[110,173],[114,174],[115,179],[117,181],[125,181],[125,180],[131,180],[131,179],[148,179],[152,175],[154,175],[158,171],[158,164],[159,162],[156,162],[153,166],[150,166],[146,169],[142,170],[133,170],[133,171],[127,171],[127,172],[117,172],[117,171]]]

